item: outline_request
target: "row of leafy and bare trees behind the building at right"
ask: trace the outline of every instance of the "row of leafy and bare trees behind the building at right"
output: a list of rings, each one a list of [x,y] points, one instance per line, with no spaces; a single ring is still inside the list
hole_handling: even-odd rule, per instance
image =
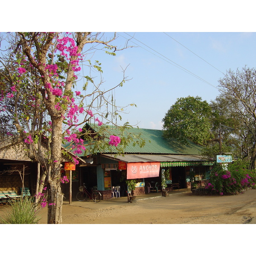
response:
[[[199,96],[177,99],[163,118],[164,136],[202,145],[202,154],[212,160],[232,153],[255,169],[256,70],[227,71],[219,91],[210,103]]]

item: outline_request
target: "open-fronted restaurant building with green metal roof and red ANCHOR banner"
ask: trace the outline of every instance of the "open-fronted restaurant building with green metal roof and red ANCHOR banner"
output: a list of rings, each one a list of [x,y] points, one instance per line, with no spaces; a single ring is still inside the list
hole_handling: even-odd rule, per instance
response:
[[[90,128],[97,130],[93,125]],[[201,156],[201,146],[192,142],[184,145],[176,139],[166,139],[162,130],[129,128],[129,132],[140,133],[146,142],[145,146],[134,146],[131,143],[125,148],[123,155],[116,155],[115,146],[112,146],[110,152],[99,152],[85,158],[88,163],[79,166],[79,179],[76,185],[73,183],[77,191],[82,183],[88,188],[96,186],[104,200],[112,197],[113,186],[120,186],[121,195],[126,196],[125,181],[129,179],[137,181],[134,194],[144,194],[146,183],[161,184],[165,170],[169,170],[169,187],[178,183],[180,188],[189,188],[191,170],[195,172],[198,186],[209,177],[209,167],[212,163]],[[116,131],[115,134],[118,135]]]

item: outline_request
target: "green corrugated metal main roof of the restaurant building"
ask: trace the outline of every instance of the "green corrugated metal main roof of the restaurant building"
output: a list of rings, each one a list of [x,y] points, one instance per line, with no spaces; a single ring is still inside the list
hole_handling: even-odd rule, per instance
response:
[[[97,130],[97,125],[91,125],[91,128]],[[111,134],[118,136],[120,131],[114,126],[110,126]],[[200,155],[202,147],[189,142],[188,145],[184,145],[178,142],[176,139],[166,139],[163,137],[163,130],[143,129],[143,128],[128,128],[127,133],[141,134],[141,137],[145,140],[145,146],[133,146],[132,143],[125,148],[125,153],[133,154],[188,154],[188,155]],[[115,147],[112,146],[112,153],[115,151]],[[102,152],[103,153],[103,152]],[[104,152],[109,153],[109,152]]]

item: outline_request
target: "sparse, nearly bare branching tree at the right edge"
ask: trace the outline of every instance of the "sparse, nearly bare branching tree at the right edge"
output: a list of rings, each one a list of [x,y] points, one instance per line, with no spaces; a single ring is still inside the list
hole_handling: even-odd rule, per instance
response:
[[[232,113],[240,122],[239,134],[242,152],[256,167],[256,70],[247,67],[236,72],[229,70],[219,80],[221,95],[232,105]],[[248,144],[249,143],[249,144]]]

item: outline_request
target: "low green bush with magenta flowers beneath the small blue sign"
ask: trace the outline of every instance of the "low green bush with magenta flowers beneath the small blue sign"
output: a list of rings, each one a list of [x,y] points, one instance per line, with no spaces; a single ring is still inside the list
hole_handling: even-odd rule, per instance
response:
[[[256,172],[248,170],[248,163],[237,160],[223,169],[220,164],[213,166],[205,189],[220,195],[236,194],[248,187],[255,187]]]

